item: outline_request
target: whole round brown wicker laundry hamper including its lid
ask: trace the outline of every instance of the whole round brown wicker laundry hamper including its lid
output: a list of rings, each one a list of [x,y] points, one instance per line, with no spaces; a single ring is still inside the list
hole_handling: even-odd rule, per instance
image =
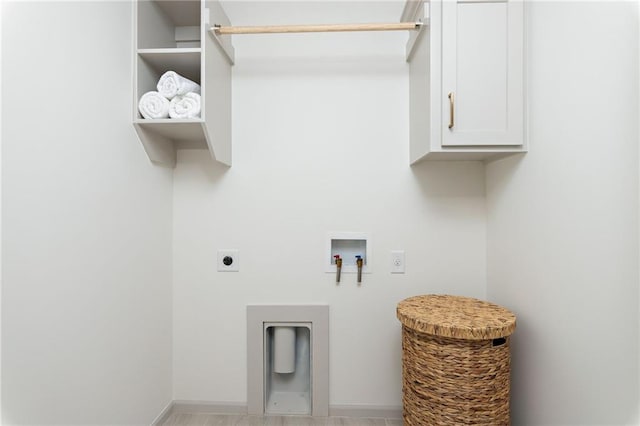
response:
[[[493,303],[448,295],[398,303],[405,426],[509,425],[509,335],[516,318]]]

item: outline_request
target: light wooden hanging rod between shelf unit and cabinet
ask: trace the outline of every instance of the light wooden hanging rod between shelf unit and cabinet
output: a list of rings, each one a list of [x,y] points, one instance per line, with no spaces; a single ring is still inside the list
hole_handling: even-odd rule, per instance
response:
[[[223,27],[214,25],[209,31],[219,35],[231,34],[279,34],[279,33],[327,33],[339,31],[403,31],[417,30],[422,22],[393,22],[390,24],[325,24],[325,25],[272,25],[255,27]]]

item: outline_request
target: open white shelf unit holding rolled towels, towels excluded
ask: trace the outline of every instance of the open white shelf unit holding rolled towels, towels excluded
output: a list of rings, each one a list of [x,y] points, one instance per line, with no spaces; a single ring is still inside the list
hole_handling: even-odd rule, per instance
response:
[[[174,167],[176,149],[209,149],[213,158],[231,165],[230,36],[214,36],[214,24],[230,25],[216,0],[138,0],[134,3],[134,117],[140,141],[156,163]],[[140,98],[156,91],[167,71],[198,83],[200,115],[196,118],[144,118]]]

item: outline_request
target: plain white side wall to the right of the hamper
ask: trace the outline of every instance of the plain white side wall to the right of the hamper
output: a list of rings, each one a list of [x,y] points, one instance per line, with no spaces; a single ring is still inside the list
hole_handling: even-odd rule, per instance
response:
[[[514,424],[638,424],[638,5],[533,2],[531,152],[487,166]]]

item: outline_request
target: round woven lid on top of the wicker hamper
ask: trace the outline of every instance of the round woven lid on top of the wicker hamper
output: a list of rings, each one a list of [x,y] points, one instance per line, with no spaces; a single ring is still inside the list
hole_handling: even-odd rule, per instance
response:
[[[405,327],[441,337],[497,339],[516,328],[516,317],[508,309],[469,297],[414,296],[398,303],[396,312]]]

